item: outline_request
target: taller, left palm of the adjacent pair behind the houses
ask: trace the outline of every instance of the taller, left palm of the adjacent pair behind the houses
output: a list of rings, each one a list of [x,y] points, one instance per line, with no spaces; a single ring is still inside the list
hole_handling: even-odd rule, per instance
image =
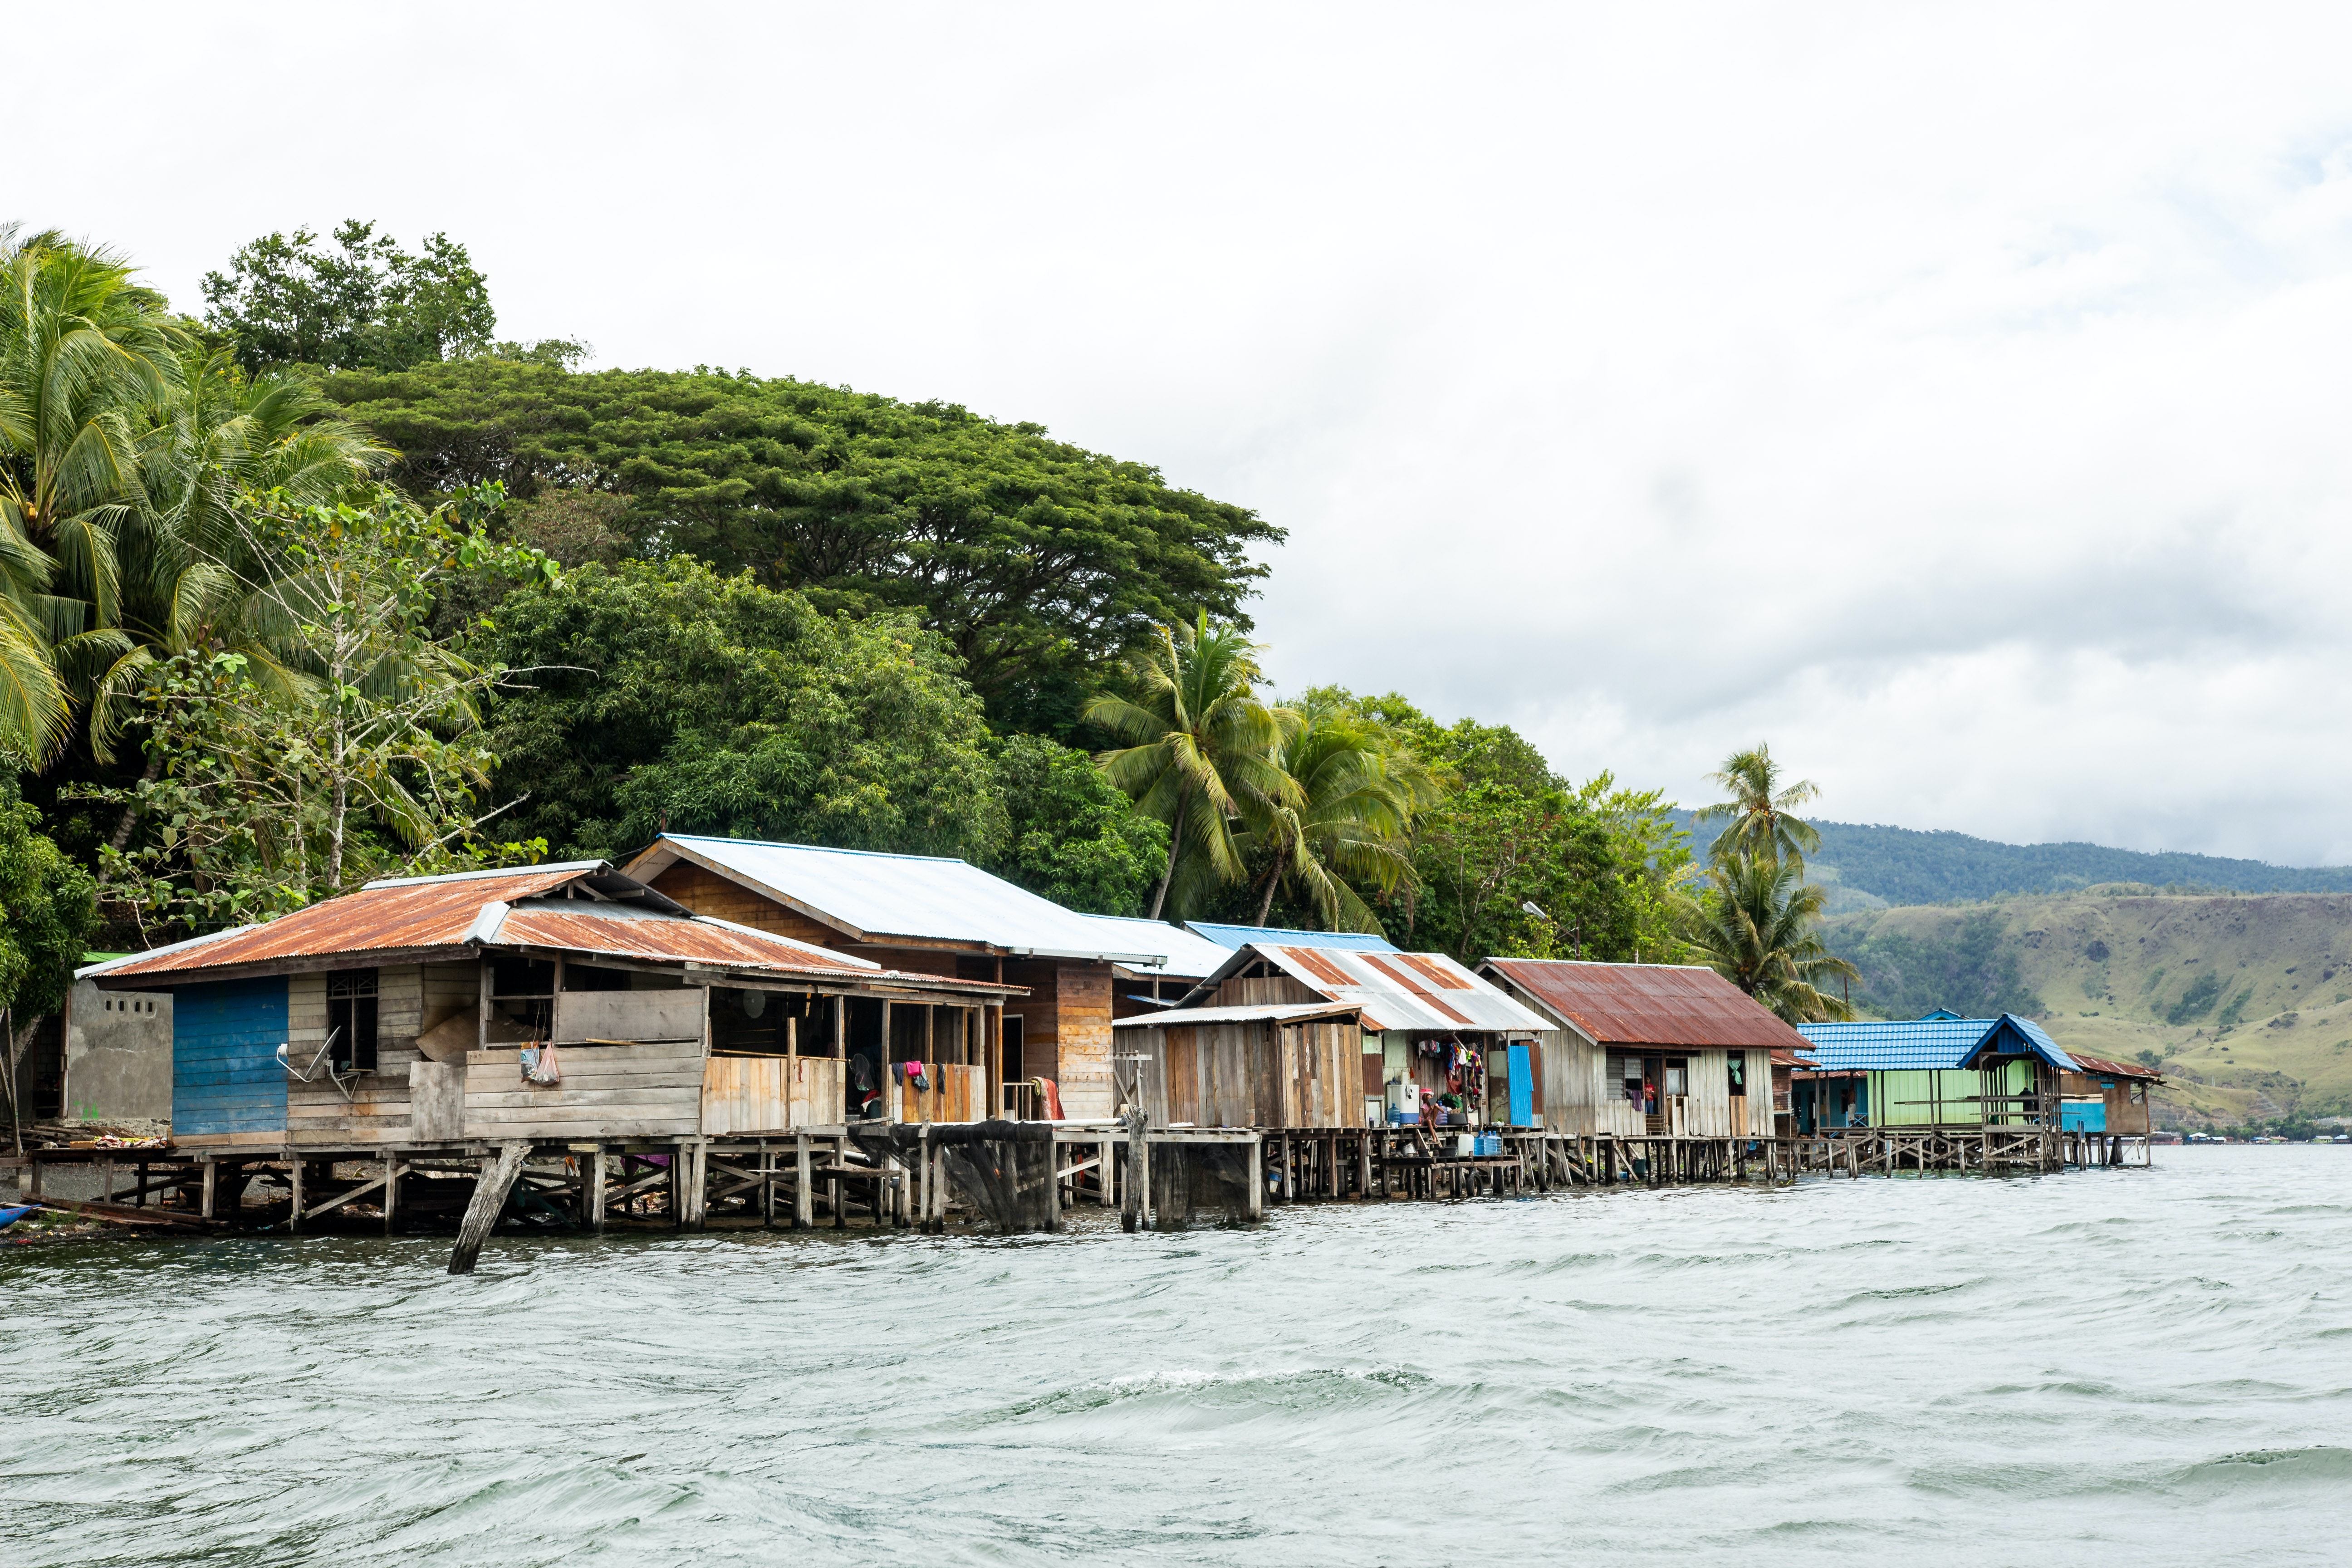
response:
[[[1169,891],[1178,907],[1221,882],[1240,882],[1240,818],[1298,806],[1296,780],[1275,762],[1287,715],[1258,701],[1258,646],[1230,625],[1160,628],[1160,642],[1129,665],[1136,696],[1098,696],[1084,719],[1120,741],[1096,757],[1103,776],[1148,816],[1169,825],[1169,863],[1152,889],[1160,919]]]

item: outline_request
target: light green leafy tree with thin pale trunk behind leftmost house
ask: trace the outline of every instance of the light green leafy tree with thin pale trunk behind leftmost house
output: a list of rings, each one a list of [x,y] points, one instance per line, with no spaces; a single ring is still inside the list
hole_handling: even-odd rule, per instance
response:
[[[143,658],[120,696],[146,773],[73,790],[155,825],[101,846],[111,907],[153,940],[527,849],[477,832],[494,762],[480,698],[501,670],[428,628],[452,574],[555,576],[489,536],[501,501],[496,487],[430,512],[383,487],[332,505],[240,501],[240,545],[207,567],[233,585],[242,646],[214,635]]]

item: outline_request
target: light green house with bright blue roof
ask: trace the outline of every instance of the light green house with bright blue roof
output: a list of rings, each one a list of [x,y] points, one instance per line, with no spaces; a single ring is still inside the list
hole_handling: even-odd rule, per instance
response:
[[[2063,1074],[2079,1072],[2032,1018],[1931,1013],[1891,1023],[1799,1023],[1811,1070],[1792,1084],[1795,1131],[2058,1126]]]

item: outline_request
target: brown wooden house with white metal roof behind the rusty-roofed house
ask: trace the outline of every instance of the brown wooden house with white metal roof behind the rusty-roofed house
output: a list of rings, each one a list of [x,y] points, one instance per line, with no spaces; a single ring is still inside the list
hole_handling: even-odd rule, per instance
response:
[[[1002,1063],[990,1114],[1044,1114],[1023,1086],[1058,1086],[1063,1114],[1110,1114],[1115,969],[1167,964],[1169,938],[1037,898],[964,860],[880,856],[668,832],[628,875],[696,914],[715,914],[908,973],[1023,987],[985,1058]],[[1164,929],[1164,926],[1162,926]],[[894,1039],[894,1051],[910,1048]],[[1004,1088],[1011,1086],[1007,1095]]]

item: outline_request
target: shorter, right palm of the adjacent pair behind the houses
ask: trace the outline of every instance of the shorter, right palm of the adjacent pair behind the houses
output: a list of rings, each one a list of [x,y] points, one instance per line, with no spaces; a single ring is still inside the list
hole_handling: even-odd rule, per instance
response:
[[[1258,813],[1247,835],[1272,851],[1258,924],[1275,893],[1296,882],[1331,931],[1378,931],[1355,884],[1385,893],[1411,877],[1404,839],[1414,813],[1437,802],[1437,780],[1381,724],[1334,696],[1308,693],[1291,712],[1275,762],[1296,780],[1298,802]]]

